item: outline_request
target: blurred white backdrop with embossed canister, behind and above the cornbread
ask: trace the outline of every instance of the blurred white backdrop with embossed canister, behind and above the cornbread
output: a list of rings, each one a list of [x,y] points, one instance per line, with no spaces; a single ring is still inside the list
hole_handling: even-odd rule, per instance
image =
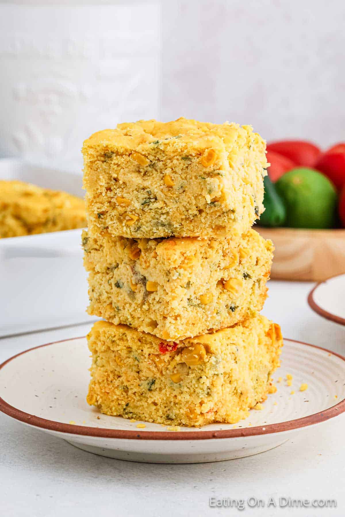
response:
[[[0,156],[74,165],[95,130],[181,115],[345,138],[344,0],[37,3],[0,5]]]

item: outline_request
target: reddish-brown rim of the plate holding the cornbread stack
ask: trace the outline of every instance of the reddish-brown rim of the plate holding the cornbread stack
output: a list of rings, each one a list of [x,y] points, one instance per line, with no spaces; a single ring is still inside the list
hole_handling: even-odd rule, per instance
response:
[[[20,352],[19,354],[10,357],[2,364],[0,364],[0,370],[10,361],[16,359],[22,354],[26,354],[27,352],[31,352],[32,350],[36,350],[37,348],[42,348],[43,346],[54,345],[56,343],[63,343],[65,341],[73,341],[75,339],[85,339],[85,337],[81,338],[71,338],[71,339],[63,339],[60,341],[53,341],[52,343],[46,343],[45,345],[34,346],[33,348],[29,348],[28,350],[24,350],[24,352]],[[345,357],[336,352],[332,352],[331,350],[327,350],[326,348],[322,348],[321,346],[311,345],[309,343],[305,343],[303,341],[297,341],[295,339],[288,339],[287,341],[292,341],[294,343],[299,343],[302,345],[312,346],[313,348],[319,348],[328,354],[332,354],[334,356],[340,357],[345,362]],[[345,367],[345,365],[344,365]],[[83,436],[94,436],[100,438],[123,438],[123,439],[141,439],[141,440],[205,440],[211,438],[238,438],[241,436],[258,436],[261,434],[272,434],[272,433],[280,433],[283,431],[291,431],[293,429],[299,429],[302,427],[307,427],[308,425],[313,425],[316,423],[324,422],[329,418],[333,418],[335,416],[340,415],[345,412],[345,399],[338,402],[335,406],[328,407],[319,413],[314,413],[313,415],[309,415],[302,418],[296,418],[295,420],[288,420],[287,422],[279,422],[267,425],[259,425],[257,427],[248,427],[244,429],[223,429],[219,431],[126,431],[120,429],[100,429],[96,427],[86,427],[84,425],[74,425],[63,422],[56,422],[54,420],[47,420],[46,418],[37,417],[36,415],[30,415],[29,413],[25,413],[21,409],[11,406],[4,399],[0,397],[0,411],[9,415],[10,417],[19,420],[21,422],[27,423],[29,425],[33,425],[34,427],[38,427],[41,429],[46,429],[48,431],[57,431],[59,433],[66,434],[77,434]],[[226,425],[226,424],[224,424]]]

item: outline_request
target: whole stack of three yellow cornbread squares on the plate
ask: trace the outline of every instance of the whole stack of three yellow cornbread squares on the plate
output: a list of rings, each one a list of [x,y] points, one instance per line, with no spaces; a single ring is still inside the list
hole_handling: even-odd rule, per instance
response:
[[[275,390],[259,314],[273,245],[265,142],[250,126],[140,120],[84,142],[92,352],[87,402],[162,424],[235,423]]]

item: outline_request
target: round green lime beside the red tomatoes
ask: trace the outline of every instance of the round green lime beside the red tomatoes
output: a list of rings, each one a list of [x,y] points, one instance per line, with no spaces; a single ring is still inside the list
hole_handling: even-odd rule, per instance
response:
[[[284,226],[291,228],[332,228],[335,225],[337,192],[320,172],[299,167],[275,183],[287,211]]]

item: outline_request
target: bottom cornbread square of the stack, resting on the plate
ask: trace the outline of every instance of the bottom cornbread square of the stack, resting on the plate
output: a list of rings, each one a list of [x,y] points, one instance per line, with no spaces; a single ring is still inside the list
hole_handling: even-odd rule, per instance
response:
[[[235,423],[275,391],[279,325],[260,314],[179,342],[96,322],[87,402],[107,415],[163,424]]]

